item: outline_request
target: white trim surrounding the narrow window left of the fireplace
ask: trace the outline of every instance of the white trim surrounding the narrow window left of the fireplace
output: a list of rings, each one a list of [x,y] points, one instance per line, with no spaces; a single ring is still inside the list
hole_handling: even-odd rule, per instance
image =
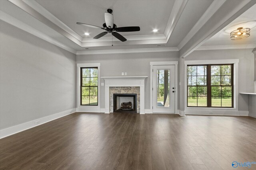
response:
[[[100,112],[100,63],[80,63],[77,66],[77,111]],[[80,104],[80,68],[98,67],[98,106],[83,106]]]

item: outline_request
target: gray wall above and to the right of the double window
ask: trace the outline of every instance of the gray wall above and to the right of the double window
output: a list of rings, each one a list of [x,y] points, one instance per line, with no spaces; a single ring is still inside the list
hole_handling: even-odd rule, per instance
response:
[[[252,49],[194,51],[185,60],[239,59],[238,93],[254,92],[254,54]],[[238,110],[248,111],[248,95],[238,94]]]

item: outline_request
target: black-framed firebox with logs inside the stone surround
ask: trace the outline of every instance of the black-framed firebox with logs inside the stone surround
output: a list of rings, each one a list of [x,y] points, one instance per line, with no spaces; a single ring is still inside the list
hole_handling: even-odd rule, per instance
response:
[[[137,94],[113,94],[113,112],[137,113]]]

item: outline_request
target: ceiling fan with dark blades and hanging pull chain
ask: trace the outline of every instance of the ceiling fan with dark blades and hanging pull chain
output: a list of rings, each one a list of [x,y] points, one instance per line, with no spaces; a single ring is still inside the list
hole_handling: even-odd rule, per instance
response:
[[[127,39],[124,38],[121,34],[119,34],[117,32],[140,31],[140,27],[117,27],[116,24],[114,24],[114,17],[113,17],[112,12],[113,11],[111,9],[108,9],[107,12],[105,12],[105,22],[106,23],[103,23],[103,27],[98,27],[98,26],[95,26],[95,25],[90,25],[90,24],[87,24],[87,23],[80,23],[80,22],[77,22],[77,24],[78,25],[84,25],[84,26],[87,26],[87,27],[106,30],[105,32],[102,32],[102,33],[96,35],[95,37],[93,37],[94,39],[98,39],[100,37],[103,37],[107,33],[111,33],[114,37],[116,37],[120,41],[124,42]]]

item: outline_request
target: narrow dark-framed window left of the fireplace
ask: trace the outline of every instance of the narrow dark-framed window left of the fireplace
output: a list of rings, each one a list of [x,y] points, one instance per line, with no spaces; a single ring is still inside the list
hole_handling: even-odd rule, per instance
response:
[[[98,106],[98,67],[81,67],[80,77],[80,104]]]

